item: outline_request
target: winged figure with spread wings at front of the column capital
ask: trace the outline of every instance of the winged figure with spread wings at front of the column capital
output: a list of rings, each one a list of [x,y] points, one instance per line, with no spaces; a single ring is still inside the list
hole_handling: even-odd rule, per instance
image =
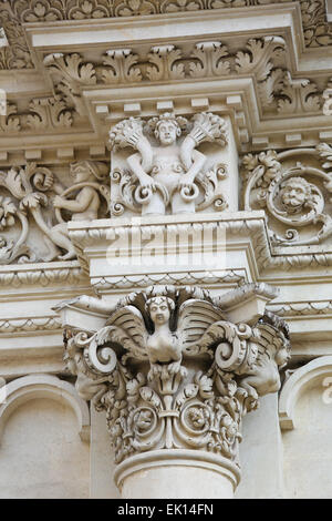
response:
[[[177,328],[172,330],[169,323],[175,311]],[[135,306],[122,307],[111,316],[106,327],[96,334],[95,344],[101,346],[111,341],[128,351],[126,358],[148,360],[149,378],[160,372],[162,366],[167,366],[170,374],[184,371],[183,354],[190,356],[207,351],[209,343],[204,337],[206,329],[225,318],[212,304],[199,299],[187,300],[176,310],[174,299],[164,295],[147,299],[143,314]]]

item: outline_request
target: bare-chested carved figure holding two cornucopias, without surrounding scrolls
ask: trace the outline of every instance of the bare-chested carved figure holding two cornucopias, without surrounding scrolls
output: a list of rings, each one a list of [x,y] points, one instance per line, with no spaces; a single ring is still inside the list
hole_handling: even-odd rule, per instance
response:
[[[206,162],[206,156],[195,149],[203,141],[219,141],[225,146],[227,140],[224,120],[203,113],[194,116],[191,132],[178,144],[177,139],[187,125],[185,118],[168,112],[152,118],[147,129],[154,132],[157,146],[143,134],[139,119],[125,120],[110,132],[112,146],[138,151],[127,157],[127,164],[139,183],[135,198],[142,204],[143,215],[164,215],[168,205],[173,214],[195,212],[199,195],[195,181]]]

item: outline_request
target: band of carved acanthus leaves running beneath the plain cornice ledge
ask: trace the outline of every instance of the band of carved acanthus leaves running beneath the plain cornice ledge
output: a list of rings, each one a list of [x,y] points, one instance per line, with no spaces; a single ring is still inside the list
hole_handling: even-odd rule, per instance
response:
[[[180,45],[152,47],[149,52],[110,49],[95,62],[79,53],[53,53],[44,58],[59,95],[84,113],[80,86],[92,84],[136,84],[185,79],[255,75],[258,99],[268,112],[293,114],[319,112],[322,100],[310,79],[292,79],[286,64],[286,42],[281,37],[251,38],[230,52],[221,41],[204,41],[184,50]],[[328,83],[326,83],[328,84]]]

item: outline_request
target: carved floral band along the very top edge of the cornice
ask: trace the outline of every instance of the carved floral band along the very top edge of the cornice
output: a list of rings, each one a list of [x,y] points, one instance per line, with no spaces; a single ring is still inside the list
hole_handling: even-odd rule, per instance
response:
[[[21,23],[135,17],[282,3],[282,0],[12,0],[1,1],[0,20]],[[324,0],[300,0],[307,47],[330,45]],[[6,25],[4,25],[6,27]],[[7,28],[7,27],[6,27]]]

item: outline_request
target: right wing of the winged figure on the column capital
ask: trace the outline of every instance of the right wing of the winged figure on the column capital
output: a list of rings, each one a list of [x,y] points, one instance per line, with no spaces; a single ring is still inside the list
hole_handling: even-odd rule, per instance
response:
[[[186,300],[180,306],[178,316],[178,331],[183,343],[183,351],[187,355],[197,354],[197,343],[208,327],[225,319],[225,314],[206,300],[196,298]]]

